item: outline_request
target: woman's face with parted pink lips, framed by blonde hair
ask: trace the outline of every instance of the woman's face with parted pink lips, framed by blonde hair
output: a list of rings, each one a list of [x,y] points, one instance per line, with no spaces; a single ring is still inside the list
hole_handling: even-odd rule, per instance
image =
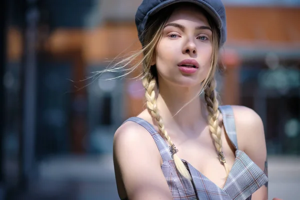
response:
[[[212,30],[197,9],[175,9],[156,46],[155,60],[160,84],[190,87],[207,76],[212,53]]]

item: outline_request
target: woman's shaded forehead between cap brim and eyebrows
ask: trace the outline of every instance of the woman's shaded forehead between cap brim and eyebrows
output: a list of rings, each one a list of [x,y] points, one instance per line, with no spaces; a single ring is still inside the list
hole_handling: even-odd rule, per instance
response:
[[[205,17],[203,12],[200,9],[191,6],[175,8],[171,13],[170,17],[168,18],[167,23],[184,20],[190,20],[196,23],[209,25],[207,18]]]

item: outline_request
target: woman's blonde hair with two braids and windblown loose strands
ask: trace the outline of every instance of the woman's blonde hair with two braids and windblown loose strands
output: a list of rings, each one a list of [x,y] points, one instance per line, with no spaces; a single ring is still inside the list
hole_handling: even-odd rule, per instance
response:
[[[204,12],[205,13],[205,12]],[[170,139],[166,129],[164,128],[162,117],[159,114],[159,110],[156,104],[156,95],[155,95],[155,87],[158,88],[158,80],[157,80],[157,71],[156,66],[151,66],[151,61],[153,60],[153,56],[155,54],[155,48],[157,43],[160,40],[161,33],[163,27],[168,19],[168,16],[171,14],[170,9],[165,12],[160,13],[159,17],[152,17],[155,20],[149,22],[150,26],[146,29],[143,35],[143,47],[141,50],[135,52],[131,56],[128,56],[125,59],[115,63],[111,68],[104,69],[103,71],[99,71],[98,73],[103,73],[105,71],[118,71],[123,70],[125,73],[121,76],[125,76],[131,71],[134,71],[140,64],[142,64],[142,84],[145,88],[145,99],[146,106],[157,123],[160,135],[167,141],[170,147],[174,147],[173,142]],[[207,16],[207,15],[206,15]],[[202,88],[200,89],[205,92],[205,102],[208,110],[208,125],[209,131],[211,133],[211,137],[214,141],[214,145],[219,156],[219,160],[221,164],[224,165],[226,170],[226,174],[229,173],[229,168],[226,164],[225,158],[222,153],[222,143],[221,143],[221,127],[219,125],[218,116],[218,100],[217,100],[217,92],[215,91],[216,81],[214,79],[214,73],[217,68],[217,57],[218,57],[218,46],[219,46],[219,35],[214,24],[209,20],[209,17],[206,17],[210,26],[212,27],[212,55],[210,68],[207,77],[203,81]],[[136,58],[142,56],[142,58],[135,63],[133,66],[129,68],[124,68],[128,64],[130,64]],[[200,92],[198,93],[198,95]],[[198,96],[197,95],[197,96]],[[185,167],[183,161],[177,156],[177,154],[172,154],[174,163],[176,165],[177,170],[181,175],[186,177],[187,179],[191,179],[189,171]]]

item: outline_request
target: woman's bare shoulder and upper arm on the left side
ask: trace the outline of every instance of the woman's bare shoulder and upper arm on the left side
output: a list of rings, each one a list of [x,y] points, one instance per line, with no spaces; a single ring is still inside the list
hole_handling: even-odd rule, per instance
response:
[[[158,148],[139,124],[128,121],[115,132],[113,162],[129,200],[173,199],[160,168]]]

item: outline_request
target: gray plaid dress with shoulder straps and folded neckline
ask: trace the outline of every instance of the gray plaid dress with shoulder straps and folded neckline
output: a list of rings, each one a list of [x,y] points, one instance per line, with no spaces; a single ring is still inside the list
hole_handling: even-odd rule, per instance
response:
[[[192,181],[183,177],[177,171],[175,163],[171,158],[169,146],[156,129],[150,123],[138,117],[130,117],[126,120],[140,124],[152,135],[162,157],[161,170],[174,200],[250,200],[251,194],[268,181],[267,176],[248,155],[238,150],[231,106],[223,105],[219,109],[223,116],[226,133],[235,147],[235,161],[223,188],[217,186],[191,164],[182,159],[190,172]]]

